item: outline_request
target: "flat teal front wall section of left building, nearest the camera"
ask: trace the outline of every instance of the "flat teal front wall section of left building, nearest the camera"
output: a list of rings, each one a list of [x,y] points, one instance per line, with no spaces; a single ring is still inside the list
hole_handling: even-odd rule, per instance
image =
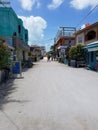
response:
[[[12,8],[0,7],[0,36],[18,34],[18,18]]]

